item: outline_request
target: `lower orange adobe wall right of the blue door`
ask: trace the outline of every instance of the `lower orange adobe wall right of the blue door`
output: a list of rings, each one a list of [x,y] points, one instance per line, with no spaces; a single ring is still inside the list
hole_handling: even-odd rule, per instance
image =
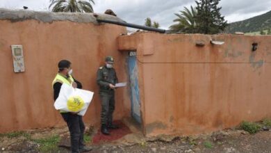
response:
[[[270,35],[138,33],[120,36],[118,48],[137,51],[147,136],[202,134],[271,117]]]

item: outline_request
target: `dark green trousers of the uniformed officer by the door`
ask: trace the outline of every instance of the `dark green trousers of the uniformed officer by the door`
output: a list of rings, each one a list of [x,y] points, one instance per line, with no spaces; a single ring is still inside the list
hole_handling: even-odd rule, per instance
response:
[[[115,110],[115,94],[100,92],[101,97],[101,127],[112,124]]]

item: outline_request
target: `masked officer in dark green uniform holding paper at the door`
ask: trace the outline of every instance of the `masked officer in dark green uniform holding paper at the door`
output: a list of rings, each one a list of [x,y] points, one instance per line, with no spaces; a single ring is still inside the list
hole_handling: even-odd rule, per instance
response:
[[[113,124],[113,112],[115,110],[115,84],[117,74],[113,68],[114,59],[107,56],[105,65],[99,67],[97,72],[97,83],[100,87],[99,95],[101,97],[101,133],[109,135],[108,129],[117,129]]]

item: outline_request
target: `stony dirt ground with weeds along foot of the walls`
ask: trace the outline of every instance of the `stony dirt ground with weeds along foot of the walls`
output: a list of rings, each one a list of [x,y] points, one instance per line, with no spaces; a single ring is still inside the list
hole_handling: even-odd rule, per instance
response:
[[[87,130],[87,134],[88,134]],[[48,139],[46,139],[48,138]],[[86,145],[91,152],[252,152],[271,153],[271,131],[249,134],[239,129],[216,131],[212,134],[190,137],[158,136],[145,138],[139,132],[128,134],[120,140],[93,145],[91,136]],[[69,152],[63,144],[69,145],[66,127],[36,129],[19,133],[0,135],[0,152]],[[64,145],[65,146],[65,145]]]

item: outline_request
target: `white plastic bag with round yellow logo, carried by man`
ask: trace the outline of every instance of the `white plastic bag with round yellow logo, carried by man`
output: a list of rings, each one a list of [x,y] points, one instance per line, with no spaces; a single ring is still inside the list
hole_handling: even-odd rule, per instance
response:
[[[83,116],[88,110],[93,95],[94,92],[73,88],[63,83],[54,106],[56,110],[73,112]]]

